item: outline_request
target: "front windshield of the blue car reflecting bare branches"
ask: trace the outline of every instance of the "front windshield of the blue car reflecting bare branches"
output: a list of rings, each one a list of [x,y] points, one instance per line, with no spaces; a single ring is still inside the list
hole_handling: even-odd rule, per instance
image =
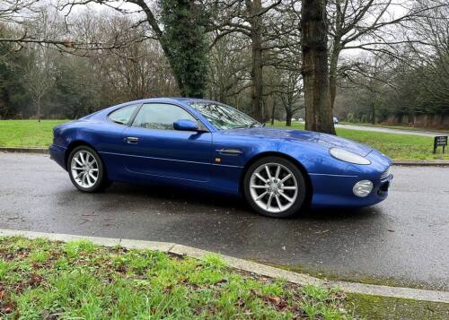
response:
[[[262,126],[260,122],[245,115],[241,111],[217,102],[191,101],[190,107],[196,109],[207,118],[218,130],[251,128]]]

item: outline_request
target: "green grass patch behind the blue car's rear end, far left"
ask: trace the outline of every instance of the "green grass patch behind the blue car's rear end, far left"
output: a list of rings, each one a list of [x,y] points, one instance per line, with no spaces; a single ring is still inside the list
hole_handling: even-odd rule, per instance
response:
[[[48,147],[53,127],[69,120],[0,120],[0,146]]]

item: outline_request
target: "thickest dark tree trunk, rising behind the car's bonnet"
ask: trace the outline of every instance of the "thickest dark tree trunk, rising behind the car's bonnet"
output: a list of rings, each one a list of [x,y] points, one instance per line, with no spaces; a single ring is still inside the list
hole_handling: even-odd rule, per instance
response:
[[[330,108],[325,0],[302,0],[305,128],[335,134]]]

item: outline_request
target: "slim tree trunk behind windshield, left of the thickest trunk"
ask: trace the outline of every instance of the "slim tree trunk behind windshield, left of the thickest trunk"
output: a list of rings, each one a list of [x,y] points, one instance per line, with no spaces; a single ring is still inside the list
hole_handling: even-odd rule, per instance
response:
[[[262,109],[262,20],[259,14],[262,9],[261,0],[252,1],[251,14],[251,105],[253,116],[256,120],[263,121]]]

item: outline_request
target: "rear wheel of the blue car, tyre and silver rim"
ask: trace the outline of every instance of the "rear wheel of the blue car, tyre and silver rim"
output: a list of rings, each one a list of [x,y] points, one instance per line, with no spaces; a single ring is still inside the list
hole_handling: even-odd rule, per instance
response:
[[[70,180],[83,192],[97,192],[108,186],[110,182],[104,174],[104,166],[100,156],[91,147],[76,147],[67,160]]]

